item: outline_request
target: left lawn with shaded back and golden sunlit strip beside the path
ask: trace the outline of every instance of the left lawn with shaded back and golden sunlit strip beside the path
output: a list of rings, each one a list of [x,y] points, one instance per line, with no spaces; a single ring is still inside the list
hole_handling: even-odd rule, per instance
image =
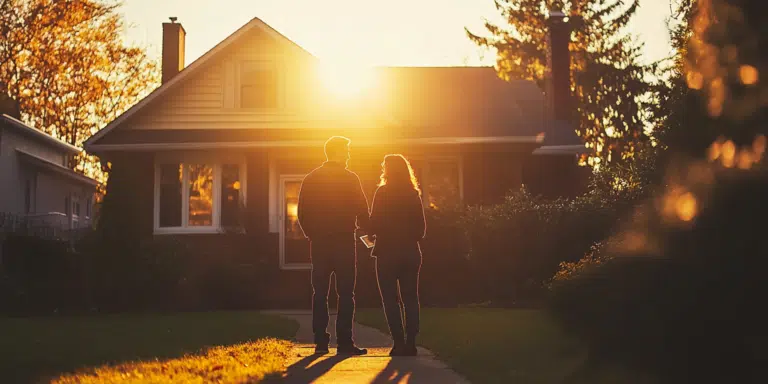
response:
[[[297,329],[256,312],[0,318],[0,382],[255,379],[283,368]]]

